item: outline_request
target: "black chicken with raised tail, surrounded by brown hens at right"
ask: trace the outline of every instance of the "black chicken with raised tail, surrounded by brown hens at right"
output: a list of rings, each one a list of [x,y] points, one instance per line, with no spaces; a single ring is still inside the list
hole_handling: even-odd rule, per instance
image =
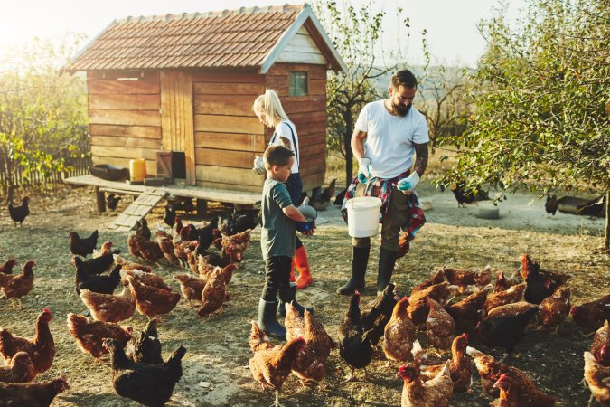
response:
[[[521,340],[525,333],[525,327],[528,326],[530,319],[537,312],[538,308],[531,308],[514,316],[483,319],[474,328],[474,335],[481,339],[484,345],[490,347],[502,346],[506,349],[507,353],[501,360],[503,362]]]

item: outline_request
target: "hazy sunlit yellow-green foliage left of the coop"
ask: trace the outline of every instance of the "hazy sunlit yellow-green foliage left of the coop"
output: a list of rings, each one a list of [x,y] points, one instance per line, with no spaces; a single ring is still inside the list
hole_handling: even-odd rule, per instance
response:
[[[86,143],[87,95],[79,76],[60,75],[80,36],[61,43],[35,39],[0,65],[0,171],[12,191],[17,166],[23,175],[61,170],[64,159]]]

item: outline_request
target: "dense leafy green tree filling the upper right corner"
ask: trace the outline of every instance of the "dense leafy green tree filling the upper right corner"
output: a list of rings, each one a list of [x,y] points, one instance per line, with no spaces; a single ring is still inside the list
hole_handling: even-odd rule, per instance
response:
[[[452,174],[503,190],[610,189],[610,6],[531,0],[519,24],[483,22],[469,130]]]

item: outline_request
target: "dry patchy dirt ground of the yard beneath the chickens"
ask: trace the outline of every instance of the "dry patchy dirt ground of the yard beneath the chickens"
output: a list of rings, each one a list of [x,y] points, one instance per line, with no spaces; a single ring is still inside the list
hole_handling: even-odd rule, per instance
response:
[[[501,217],[487,220],[476,216],[478,208],[469,205],[458,209],[450,193],[439,193],[423,185],[420,199],[427,209],[427,225],[418,233],[411,253],[399,260],[394,280],[399,292],[408,293],[413,285],[426,278],[439,266],[483,267],[491,264],[494,270],[516,271],[519,256],[529,252],[542,267],[572,273],[572,302],[579,304],[610,290],[610,260],[598,250],[602,244],[604,220],[558,213],[549,218],[544,203],[530,204],[529,194],[509,195],[500,204]],[[130,201],[126,197],[118,210]],[[52,334],[57,355],[52,369],[37,380],[48,380],[67,374],[70,390],[55,399],[53,406],[127,406],[136,405],[119,397],[112,388],[111,370],[106,363],[96,362],[76,347],[66,327],[65,316],[85,309],[74,291],[74,270],[70,265],[68,233],[72,230],[88,234],[100,231],[100,241],[111,240],[127,252],[127,234],[108,232],[108,225],[116,213],[95,213],[94,195],[86,188],[59,189],[46,194],[35,194],[31,202],[31,216],[23,228],[15,228],[2,209],[0,217],[0,260],[14,256],[20,264],[36,260],[36,281],[33,291],[23,298],[23,309],[10,307],[0,298],[0,327],[20,336],[32,336],[34,320],[42,308],[52,309]],[[213,208],[212,208],[213,209]],[[221,209],[216,207],[216,209]],[[163,209],[155,208],[148,216],[154,225],[161,219]],[[196,216],[186,216],[192,222]],[[334,294],[343,284],[350,270],[350,242],[346,227],[336,207],[320,213],[316,234],[305,240],[314,271],[314,285],[299,291],[297,298],[315,308],[329,334],[336,337],[336,329],[343,318],[348,298]],[[262,288],[264,263],[258,245],[258,229],[253,233],[249,250],[239,271],[230,283],[230,302],[224,314],[208,319],[181,300],[177,308],[164,317],[159,327],[164,356],[178,345],[188,349],[183,359],[184,375],[176,386],[172,406],[267,406],[272,393],[263,393],[248,369],[250,357],[249,321],[257,315],[258,295]],[[367,284],[363,302],[370,300],[376,278],[378,242],[373,243]],[[172,274],[177,268],[164,266],[155,270],[175,289],[178,284]],[[146,319],[136,313],[124,325],[140,330]],[[516,355],[509,363],[530,374],[540,389],[558,397],[562,405],[586,405],[589,392],[579,385],[583,372],[583,351],[590,338],[578,337],[582,332],[571,320],[564,323],[558,336],[532,330],[517,346]],[[425,336],[420,340],[426,343]],[[474,347],[495,356],[499,349],[489,349],[475,342]],[[395,377],[399,364],[385,367],[382,353],[371,363],[367,382],[343,383],[348,373],[337,352],[328,361],[327,391],[302,390],[295,378],[286,380],[281,402],[286,407],[319,406],[398,406],[402,383]],[[487,406],[492,400],[481,393],[478,375],[470,393],[455,394],[452,405]]]

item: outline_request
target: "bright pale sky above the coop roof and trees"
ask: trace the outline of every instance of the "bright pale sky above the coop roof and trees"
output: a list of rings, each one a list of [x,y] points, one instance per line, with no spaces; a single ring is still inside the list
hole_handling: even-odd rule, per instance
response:
[[[361,4],[366,0],[352,0]],[[512,0],[516,15],[526,0]],[[34,36],[60,38],[66,32],[95,37],[115,18],[128,15],[182,14],[236,9],[240,6],[301,4],[294,0],[0,0],[0,53],[19,47]],[[337,3],[341,3],[338,0]],[[476,29],[482,18],[492,14],[498,0],[376,0],[387,13],[384,42],[396,35],[396,10],[400,5],[410,18],[408,63],[423,61],[422,30],[432,56],[438,61],[461,62],[471,67],[484,50],[484,40]]]

